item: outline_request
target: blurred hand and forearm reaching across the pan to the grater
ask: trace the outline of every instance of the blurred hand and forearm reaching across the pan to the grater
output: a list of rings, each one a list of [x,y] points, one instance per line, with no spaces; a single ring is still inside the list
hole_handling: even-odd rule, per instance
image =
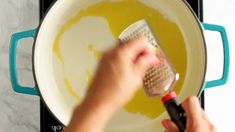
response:
[[[148,40],[139,36],[103,53],[84,101],[67,132],[101,132],[114,112],[142,86],[149,66],[159,63]]]

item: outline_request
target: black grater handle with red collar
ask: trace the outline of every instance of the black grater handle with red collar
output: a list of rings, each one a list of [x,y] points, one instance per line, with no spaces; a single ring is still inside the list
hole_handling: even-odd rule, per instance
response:
[[[174,96],[172,96],[172,94]],[[163,101],[164,106],[171,118],[171,120],[177,125],[180,132],[184,132],[186,129],[186,116],[181,104],[175,93],[169,93],[167,100]],[[170,97],[170,98],[169,98]]]

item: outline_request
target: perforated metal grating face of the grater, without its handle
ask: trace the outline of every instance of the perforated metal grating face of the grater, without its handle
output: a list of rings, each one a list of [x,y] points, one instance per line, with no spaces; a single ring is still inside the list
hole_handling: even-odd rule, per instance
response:
[[[163,96],[174,87],[176,81],[179,79],[179,74],[172,67],[166,54],[160,48],[160,45],[146,20],[137,21],[127,27],[121,33],[119,39],[124,43],[130,39],[136,38],[140,34],[148,39],[152,51],[155,52],[160,60],[160,64],[153,65],[146,71],[143,79],[145,93],[150,97]]]

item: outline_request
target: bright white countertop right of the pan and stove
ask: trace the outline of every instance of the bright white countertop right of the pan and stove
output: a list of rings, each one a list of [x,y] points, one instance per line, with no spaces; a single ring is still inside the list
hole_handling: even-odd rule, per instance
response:
[[[206,90],[205,110],[221,132],[234,131],[235,119],[235,0],[204,0],[204,22],[225,26],[230,43],[230,74],[226,85]],[[223,54],[221,38],[207,32],[208,79],[221,77]]]

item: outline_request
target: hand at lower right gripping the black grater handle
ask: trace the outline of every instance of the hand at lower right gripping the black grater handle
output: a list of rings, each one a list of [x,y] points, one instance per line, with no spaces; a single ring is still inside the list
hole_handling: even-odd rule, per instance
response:
[[[187,117],[185,132],[216,132],[216,128],[201,108],[197,97],[187,98],[182,103],[182,107]],[[167,132],[179,132],[175,123],[169,119],[163,120],[162,125]]]

